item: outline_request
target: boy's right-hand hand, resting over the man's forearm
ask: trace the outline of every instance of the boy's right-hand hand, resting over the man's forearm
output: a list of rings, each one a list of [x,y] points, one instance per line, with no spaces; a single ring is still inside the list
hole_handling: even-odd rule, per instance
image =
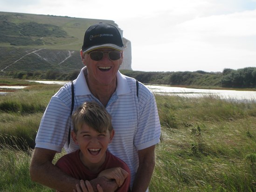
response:
[[[97,178],[99,177],[106,177],[108,179],[115,179],[116,183],[118,184],[118,187],[122,186],[125,178],[128,176],[128,172],[122,169],[121,167],[114,167],[111,169],[105,169],[104,171],[101,171]]]

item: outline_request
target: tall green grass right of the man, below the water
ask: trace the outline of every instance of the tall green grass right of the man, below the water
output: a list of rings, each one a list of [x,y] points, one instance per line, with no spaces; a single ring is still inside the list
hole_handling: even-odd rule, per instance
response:
[[[156,99],[162,136],[150,191],[256,191],[256,103]]]

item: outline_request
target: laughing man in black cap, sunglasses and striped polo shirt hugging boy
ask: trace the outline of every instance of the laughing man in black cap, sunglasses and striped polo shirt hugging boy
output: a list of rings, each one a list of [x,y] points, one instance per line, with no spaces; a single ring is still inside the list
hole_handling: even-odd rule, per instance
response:
[[[97,23],[88,28],[80,51],[85,67],[74,81],[74,104],[76,109],[85,101],[96,101],[111,114],[115,137],[108,150],[129,166],[131,191],[144,192],[155,165],[154,150],[160,137],[159,116],[152,92],[142,83],[137,87],[135,79],[118,71],[123,61],[123,48],[116,27]],[[52,164],[55,153],[63,147],[68,153],[78,149],[72,139],[69,144],[68,138],[71,100],[71,83],[52,97],[42,117],[30,165],[32,180],[59,191],[72,191],[80,184]],[[101,186],[112,184],[101,179],[97,181]]]

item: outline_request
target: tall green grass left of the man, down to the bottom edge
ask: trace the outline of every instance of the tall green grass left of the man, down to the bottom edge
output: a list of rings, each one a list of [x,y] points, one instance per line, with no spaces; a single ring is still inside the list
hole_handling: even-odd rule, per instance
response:
[[[29,164],[43,111],[60,87],[31,85],[0,96],[0,191],[55,192],[31,181]]]

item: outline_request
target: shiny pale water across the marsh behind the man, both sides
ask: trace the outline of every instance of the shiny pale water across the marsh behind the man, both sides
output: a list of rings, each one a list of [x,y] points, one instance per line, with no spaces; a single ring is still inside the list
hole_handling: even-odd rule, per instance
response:
[[[39,82],[44,84],[60,84],[64,85],[67,82],[61,81],[29,81]],[[0,88],[9,89],[23,89],[26,86],[0,86]],[[146,87],[152,90],[155,94],[161,95],[174,95],[181,97],[203,97],[203,96],[216,96],[220,99],[235,100],[241,102],[256,102],[256,91],[237,91],[237,90],[217,90],[217,89],[191,89],[181,87],[171,87],[165,85],[151,85],[146,84]],[[0,92],[0,95],[7,92]]]

